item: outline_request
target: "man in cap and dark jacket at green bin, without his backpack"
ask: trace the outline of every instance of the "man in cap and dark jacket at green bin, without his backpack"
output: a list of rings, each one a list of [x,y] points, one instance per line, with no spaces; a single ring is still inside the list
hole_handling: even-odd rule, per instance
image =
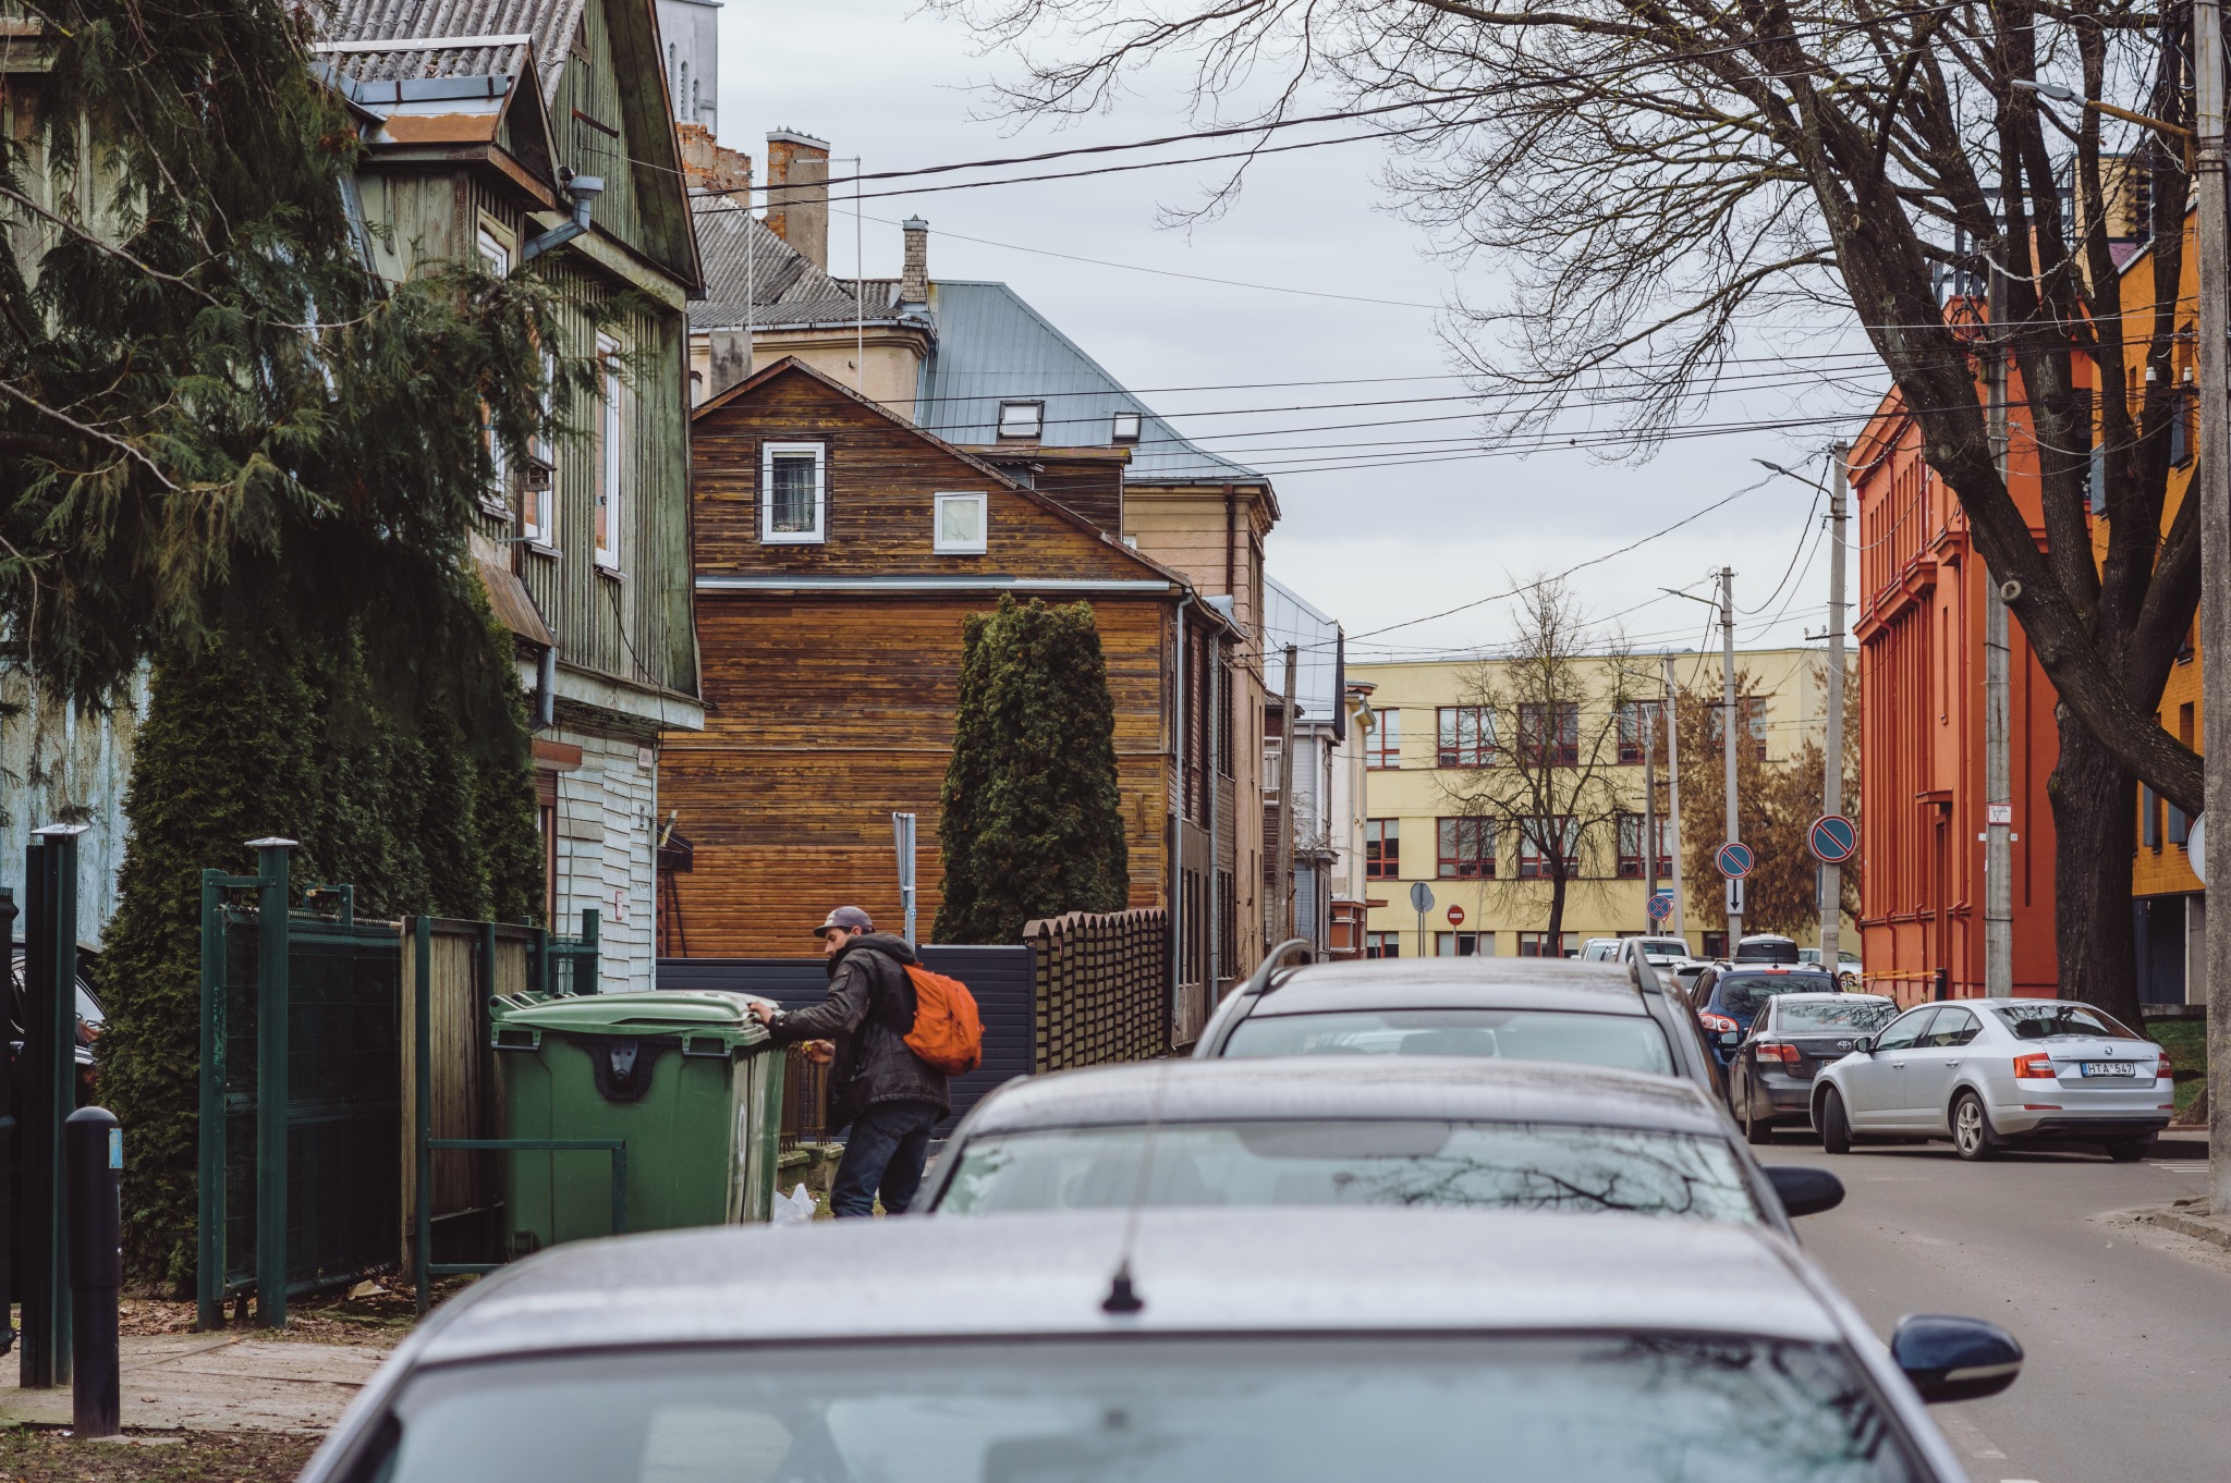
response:
[[[752,1012],[776,1044],[834,1041],[830,1124],[850,1122],[852,1131],[830,1186],[830,1211],[839,1220],[872,1215],[881,1195],[886,1213],[904,1215],[921,1186],[930,1131],[953,1111],[946,1073],[908,1048],[917,1019],[908,970],[919,970],[919,959],[906,939],[877,932],[857,905],[839,905],[814,937],[828,954],[828,999],[805,1010],[754,1001]],[[973,1001],[968,1008],[973,1015]]]

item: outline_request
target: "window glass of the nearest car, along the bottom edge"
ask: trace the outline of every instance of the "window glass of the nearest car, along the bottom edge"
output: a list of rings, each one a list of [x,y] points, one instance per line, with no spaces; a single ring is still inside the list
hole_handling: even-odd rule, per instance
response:
[[[1151,1291],[1151,1289],[1147,1289]],[[411,1380],[384,1483],[1919,1483],[1841,1347],[1745,1336],[680,1349]],[[1493,1461],[1490,1461],[1493,1458]]]

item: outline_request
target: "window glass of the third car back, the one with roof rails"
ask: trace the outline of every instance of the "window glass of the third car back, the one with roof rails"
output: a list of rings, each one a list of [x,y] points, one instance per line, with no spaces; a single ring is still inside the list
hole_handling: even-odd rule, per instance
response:
[[[1225,1055],[1490,1055],[1673,1075],[1658,1021],[1571,1010],[1249,1015],[1232,1030]]]

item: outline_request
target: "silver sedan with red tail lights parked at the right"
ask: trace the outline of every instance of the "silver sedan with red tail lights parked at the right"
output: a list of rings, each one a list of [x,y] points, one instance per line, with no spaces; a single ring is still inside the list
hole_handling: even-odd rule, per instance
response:
[[[2175,1111],[2169,1053],[2068,999],[1959,999],[1905,1010],[1827,1066],[1812,1095],[1829,1153],[1863,1137],[1950,1137],[1963,1160],[2017,1140],[2146,1157]]]

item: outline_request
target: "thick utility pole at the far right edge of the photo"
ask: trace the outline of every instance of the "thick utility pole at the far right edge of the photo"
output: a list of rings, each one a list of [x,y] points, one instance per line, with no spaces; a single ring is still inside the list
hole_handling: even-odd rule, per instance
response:
[[[2231,798],[2231,261],[2224,201],[2222,2],[2193,0],[2193,105],[2200,185],[2200,711],[2206,805]],[[2227,807],[2231,812],[2231,807]],[[2206,830],[2209,1209],[2231,1215],[2231,827]]]

